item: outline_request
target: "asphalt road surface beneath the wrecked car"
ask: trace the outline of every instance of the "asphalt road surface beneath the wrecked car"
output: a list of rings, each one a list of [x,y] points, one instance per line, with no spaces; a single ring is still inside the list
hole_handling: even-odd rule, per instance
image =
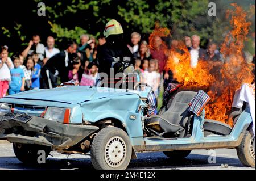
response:
[[[216,157],[211,157],[216,155]],[[162,152],[138,153],[138,159],[130,162],[128,169],[184,169],[184,170],[255,170],[239,161],[235,149],[193,150],[187,158],[174,162]],[[213,163],[209,163],[213,162]],[[21,163],[13,152],[13,145],[0,140],[0,169],[44,170],[44,169],[93,169],[90,155],[63,155],[52,151],[45,164],[31,167]]]

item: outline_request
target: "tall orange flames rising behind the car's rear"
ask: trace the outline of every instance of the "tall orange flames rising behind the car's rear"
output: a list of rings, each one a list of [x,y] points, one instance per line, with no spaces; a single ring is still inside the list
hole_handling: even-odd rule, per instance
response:
[[[174,78],[183,83],[183,87],[207,87],[210,103],[205,107],[205,118],[233,125],[229,119],[234,92],[242,83],[251,83],[253,74],[251,66],[243,56],[244,41],[249,33],[250,22],[246,21],[246,12],[242,7],[232,4],[234,10],[228,10],[231,15],[232,30],[226,35],[221,45],[222,62],[199,60],[196,68],[191,68],[191,56],[185,44],[179,42],[176,49],[165,50],[168,55],[166,69],[171,69]],[[154,36],[166,36],[166,28],[156,28],[150,36],[150,45]]]

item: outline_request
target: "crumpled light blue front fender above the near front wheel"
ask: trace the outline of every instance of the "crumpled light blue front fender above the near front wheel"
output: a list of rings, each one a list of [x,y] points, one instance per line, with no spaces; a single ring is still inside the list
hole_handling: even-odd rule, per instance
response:
[[[139,137],[138,143],[132,140],[134,145],[143,142],[142,115],[138,112],[142,104],[144,103],[138,95],[131,94],[84,102],[81,104],[81,110],[84,113],[84,119],[93,123],[106,118],[118,119],[130,137]]]

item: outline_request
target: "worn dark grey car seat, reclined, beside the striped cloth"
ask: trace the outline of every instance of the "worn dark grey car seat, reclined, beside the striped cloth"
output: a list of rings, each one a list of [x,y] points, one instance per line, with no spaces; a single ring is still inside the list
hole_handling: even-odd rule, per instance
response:
[[[186,126],[191,120],[191,113],[188,111],[189,102],[197,92],[178,92],[171,102],[170,107],[162,115],[153,116],[145,121],[145,127],[155,131],[160,136],[185,137]],[[164,136],[164,137],[166,137]]]

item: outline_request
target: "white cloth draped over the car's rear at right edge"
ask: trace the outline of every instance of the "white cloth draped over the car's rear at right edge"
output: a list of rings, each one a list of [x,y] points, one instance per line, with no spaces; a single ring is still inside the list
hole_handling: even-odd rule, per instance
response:
[[[254,85],[242,84],[234,95],[232,107],[241,108],[243,102],[249,103],[251,118],[253,119],[253,133],[255,135],[255,83]]]

